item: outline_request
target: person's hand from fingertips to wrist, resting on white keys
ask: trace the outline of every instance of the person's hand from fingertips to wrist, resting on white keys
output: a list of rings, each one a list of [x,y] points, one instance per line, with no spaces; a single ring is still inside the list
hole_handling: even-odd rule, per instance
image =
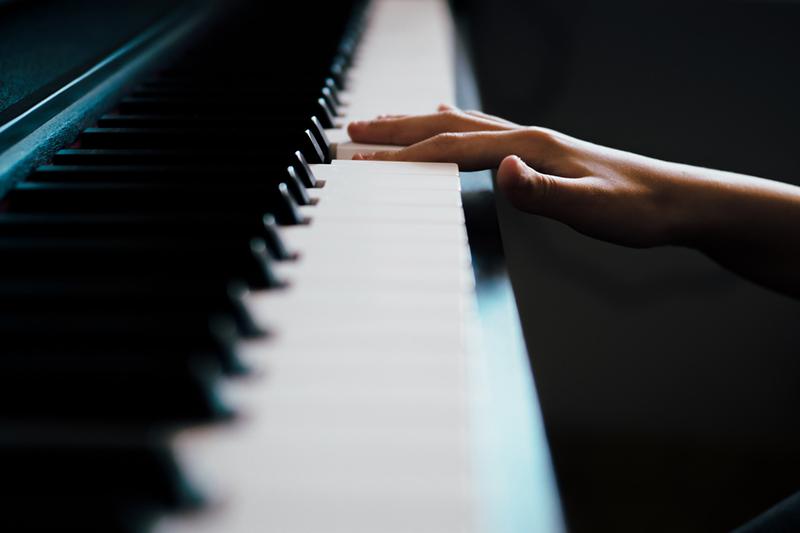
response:
[[[499,167],[498,187],[513,205],[594,237],[629,246],[677,238],[679,202],[663,162],[451,106],[354,122],[348,133],[356,142],[409,145],[354,159]]]

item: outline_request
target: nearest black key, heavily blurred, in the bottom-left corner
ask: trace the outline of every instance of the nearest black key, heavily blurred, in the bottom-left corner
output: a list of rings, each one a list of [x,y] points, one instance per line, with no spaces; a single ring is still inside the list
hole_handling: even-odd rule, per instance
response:
[[[0,442],[7,531],[134,531],[156,510],[190,510],[203,496],[171,451],[146,434],[16,431]],[[129,529],[130,528],[130,529]]]

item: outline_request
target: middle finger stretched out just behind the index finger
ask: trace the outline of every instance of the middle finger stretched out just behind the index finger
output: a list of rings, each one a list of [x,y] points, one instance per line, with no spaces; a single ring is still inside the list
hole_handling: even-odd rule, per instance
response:
[[[448,109],[429,115],[395,115],[351,122],[347,133],[351,139],[360,143],[409,145],[440,133],[500,131],[509,128],[509,125],[487,118]]]

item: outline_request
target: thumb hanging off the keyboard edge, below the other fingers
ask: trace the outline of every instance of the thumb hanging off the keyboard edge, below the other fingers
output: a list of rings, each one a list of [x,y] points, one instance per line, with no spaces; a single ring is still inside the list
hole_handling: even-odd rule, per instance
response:
[[[497,170],[497,186],[517,209],[563,219],[569,216],[583,187],[577,179],[542,174],[510,155]]]

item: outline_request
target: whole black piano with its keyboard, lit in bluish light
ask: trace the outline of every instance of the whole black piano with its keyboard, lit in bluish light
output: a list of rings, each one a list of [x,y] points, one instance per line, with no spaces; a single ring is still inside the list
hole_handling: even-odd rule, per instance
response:
[[[0,125],[0,529],[565,530],[491,174],[351,160],[440,103],[444,0],[194,1]]]

